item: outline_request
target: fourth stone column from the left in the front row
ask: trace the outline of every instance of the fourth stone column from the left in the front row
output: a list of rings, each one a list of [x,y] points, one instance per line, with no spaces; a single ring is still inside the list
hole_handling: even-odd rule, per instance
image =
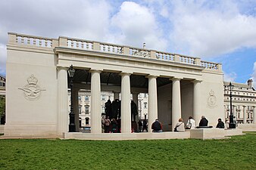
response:
[[[157,76],[148,76],[148,131],[151,132],[151,125],[158,118],[158,87]]]

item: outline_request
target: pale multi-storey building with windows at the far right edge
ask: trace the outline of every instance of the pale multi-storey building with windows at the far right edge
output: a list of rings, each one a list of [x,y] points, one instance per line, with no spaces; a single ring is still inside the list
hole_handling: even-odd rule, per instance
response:
[[[256,91],[252,87],[252,80],[248,84],[232,83],[232,110],[239,124],[255,123],[256,117]],[[224,108],[226,121],[230,115],[230,88],[229,82],[224,82]]]

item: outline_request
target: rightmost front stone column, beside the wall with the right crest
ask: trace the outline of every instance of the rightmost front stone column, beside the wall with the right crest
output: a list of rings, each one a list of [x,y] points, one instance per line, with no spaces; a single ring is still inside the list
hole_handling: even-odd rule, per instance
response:
[[[194,83],[194,95],[193,95],[193,119],[195,119],[195,125],[198,126],[201,119],[201,103],[200,103],[200,86],[201,81],[195,80]]]

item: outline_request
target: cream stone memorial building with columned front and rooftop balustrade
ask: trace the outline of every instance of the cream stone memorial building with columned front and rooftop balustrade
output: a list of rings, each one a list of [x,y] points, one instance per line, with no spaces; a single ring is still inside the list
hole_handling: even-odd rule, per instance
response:
[[[73,78],[76,126],[79,122],[77,91],[91,90],[91,134],[101,133],[101,91],[115,91],[115,98],[120,93],[122,134],[131,133],[130,96],[133,94],[136,99],[136,94],[142,92],[148,93],[148,131],[151,131],[151,123],[156,118],[164,124],[165,131],[173,130],[181,117],[186,121],[189,116],[194,116],[198,123],[204,113],[204,116],[213,120],[213,124],[218,118],[224,119],[223,73],[219,63],[83,39],[48,39],[11,32],[8,35],[7,77],[17,79],[8,84],[8,89],[20,94],[19,109],[27,121],[14,125],[20,116],[16,108],[7,107],[5,135],[22,136],[24,132],[35,136],[62,136],[67,133],[67,69],[70,65],[76,70]],[[23,74],[17,77],[14,70]],[[44,72],[48,72],[48,76]],[[31,74],[45,88],[36,101],[27,100],[18,89],[26,84]],[[48,79],[51,79],[49,85],[45,83]],[[13,94],[10,92],[7,95]],[[10,106],[13,101],[7,100],[7,103]],[[52,105],[56,110],[45,109],[42,104]],[[32,114],[26,113],[28,106],[32,106],[30,113],[36,118],[31,119]],[[44,115],[45,120],[39,119],[39,115]],[[50,119],[51,116],[56,118]],[[19,130],[21,126],[24,130]],[[35,128],[37,130],[33,130]]]

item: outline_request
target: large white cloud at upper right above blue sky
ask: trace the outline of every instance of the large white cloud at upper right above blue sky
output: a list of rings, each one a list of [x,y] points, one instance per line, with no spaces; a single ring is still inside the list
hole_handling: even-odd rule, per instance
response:
[[[214,57],[239,48],[256,48],[256,17],[241,14],[233,1],[173,1],[173,48]]]

